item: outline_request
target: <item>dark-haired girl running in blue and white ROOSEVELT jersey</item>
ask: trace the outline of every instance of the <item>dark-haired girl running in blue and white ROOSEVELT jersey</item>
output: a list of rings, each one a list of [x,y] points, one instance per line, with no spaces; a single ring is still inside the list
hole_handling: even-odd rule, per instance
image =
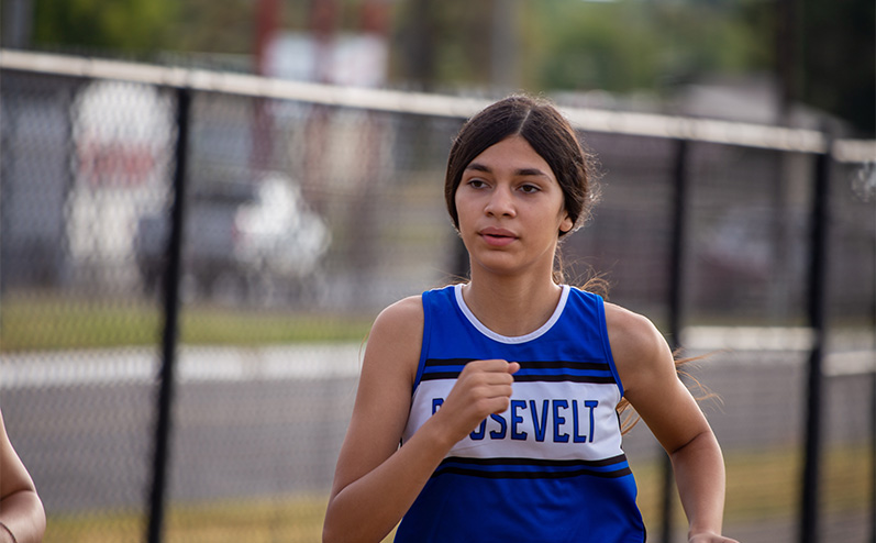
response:
[[[323,541],[401,520],[401,542],[642,542],[624,398],[672,457],[689,541],[732,542],[721,451],[663,336],[555,281],[594,200],[568,122],[528,97],[488,107],[454,142],[445,197],[470,279],[375,321]]]

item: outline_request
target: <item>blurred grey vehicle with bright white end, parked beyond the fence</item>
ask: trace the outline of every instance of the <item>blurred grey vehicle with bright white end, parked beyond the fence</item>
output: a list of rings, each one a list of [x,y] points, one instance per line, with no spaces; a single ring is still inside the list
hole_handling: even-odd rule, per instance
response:
[[[215,301],[280,301],[314,293],[330,244],[324,221],[281,174],[255,182],[201,184],[186,208],[182,296]],[[135,253],[156,290],[166,266],[169,213],[141,217]]]

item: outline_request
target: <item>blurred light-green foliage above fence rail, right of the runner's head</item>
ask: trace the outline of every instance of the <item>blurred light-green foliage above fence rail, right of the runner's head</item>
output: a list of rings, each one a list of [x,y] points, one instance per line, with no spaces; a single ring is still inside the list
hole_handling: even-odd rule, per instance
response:
[[[659,91],[763,64],[742,14],[714,4],[557,2],[537,33],[545,40],[532,62],[545,89]]]

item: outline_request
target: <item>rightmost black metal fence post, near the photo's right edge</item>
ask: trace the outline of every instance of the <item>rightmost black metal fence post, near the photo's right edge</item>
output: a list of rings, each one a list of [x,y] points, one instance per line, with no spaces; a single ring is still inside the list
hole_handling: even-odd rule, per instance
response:
[[[809,261],[809,325],[812,350],[809,354],[806,405],[806,448],[803,486],[800,507],[800,541],[816,543],[818,534],[818,498],[821,472],[821,391],[822,363],[825,354],[828,313],[828,245],[830,226],[830,145],[816,159],[812,191],[812,225]]]

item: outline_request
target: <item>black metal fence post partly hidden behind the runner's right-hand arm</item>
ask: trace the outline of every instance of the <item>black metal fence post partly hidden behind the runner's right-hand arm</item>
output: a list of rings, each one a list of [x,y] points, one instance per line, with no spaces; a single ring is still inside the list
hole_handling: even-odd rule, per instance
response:
[[[688,155],[687,140],[678,140],[675,168],[673,170],[673,225],[669,252],[669,339],[673,352],[681,346],[681,326],[685,321],[685,261],[687,253],[688,208]],[[675,475],[668,456],[663,463],[663,524],[661,541],[668,543],[673,533],[673,503],[675,501]]]

